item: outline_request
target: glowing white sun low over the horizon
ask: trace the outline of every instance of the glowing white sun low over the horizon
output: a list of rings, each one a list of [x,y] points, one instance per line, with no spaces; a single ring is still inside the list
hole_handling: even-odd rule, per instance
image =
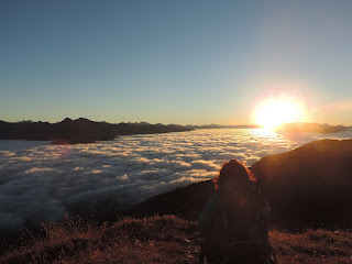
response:
[[[254,110],[256,123],[268,130],[275,130],[284,123],[305,121],[305,103],[288,96],[266,98]]]

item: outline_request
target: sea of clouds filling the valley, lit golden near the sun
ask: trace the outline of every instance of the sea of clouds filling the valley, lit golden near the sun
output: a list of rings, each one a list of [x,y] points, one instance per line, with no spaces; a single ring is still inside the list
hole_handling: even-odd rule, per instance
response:
[[[231,158],[250,166],[314,140],[351,138],[352,131],[284,136],[264,130],[196,130],[72,146],[0,141],[0,232],[62,220],[65,213],[130,208],[212,178]]]

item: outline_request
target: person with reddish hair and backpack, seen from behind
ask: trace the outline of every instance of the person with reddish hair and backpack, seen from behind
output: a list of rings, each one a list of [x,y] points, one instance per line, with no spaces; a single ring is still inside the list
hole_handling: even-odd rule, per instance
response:
[[[243,163],[231,160],[223,164],[213,184],[216,194],[198,219],[200,262],[206,256],[210,264],[276,263],[268,243],[270,206],[254,175]]]

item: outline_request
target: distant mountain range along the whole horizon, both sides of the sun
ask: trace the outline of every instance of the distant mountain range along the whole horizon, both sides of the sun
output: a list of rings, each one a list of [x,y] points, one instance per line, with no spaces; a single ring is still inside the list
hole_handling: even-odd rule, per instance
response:
[[[155,134],[168,132],[183,132],[196,129],[260,129],[257,124],[240,125],[178,125],[178,124],[150,124],[139,123],[107,123],[95,122],[79,118],[72,120],[64,119],[57,123],[48,122],[6,122],[0,121],[0,140],[30,140],[30,141],[52,141],[53,144],[78,144],[94,143],[96,141],[113,140],[118,135],[131,134]],[[277,133],[336,133],[349,129],[343,125],[329,125],[318,123],[289,123],[279,127]]]

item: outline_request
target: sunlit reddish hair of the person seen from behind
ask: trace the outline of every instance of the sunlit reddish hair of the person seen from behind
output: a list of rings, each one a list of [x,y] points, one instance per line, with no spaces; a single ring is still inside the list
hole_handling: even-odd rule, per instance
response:
[[[246,168],[246,166],[238,161],[231,160],[222,164],[222,168],[219,170],[218,176],[212,180],[216,190],[219,186],[233,179],[252,179],[256,180],[254,175]]]

